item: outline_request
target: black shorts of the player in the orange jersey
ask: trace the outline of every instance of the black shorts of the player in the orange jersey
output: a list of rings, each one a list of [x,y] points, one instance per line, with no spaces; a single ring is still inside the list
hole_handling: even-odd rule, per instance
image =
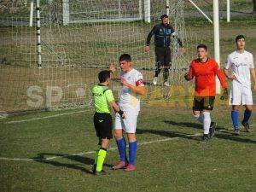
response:
[[[215,96],[195,96],[193,110],[202,111],[209,110],[212,111],[214,105]]]

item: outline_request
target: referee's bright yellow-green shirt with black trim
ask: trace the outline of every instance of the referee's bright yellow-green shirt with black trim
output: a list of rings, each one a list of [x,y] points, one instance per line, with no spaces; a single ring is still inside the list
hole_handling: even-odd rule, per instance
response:
[[[93,104],[96,113],[111,113],[109,102],[113,102],[113,93],[108,86],[97,84],[92,88]]]

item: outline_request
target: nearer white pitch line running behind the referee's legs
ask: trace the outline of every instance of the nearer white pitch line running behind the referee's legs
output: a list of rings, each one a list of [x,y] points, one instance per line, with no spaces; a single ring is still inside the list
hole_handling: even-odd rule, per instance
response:
[[[201,133],[196,133],[195,135],[187,135],[185,137],[199,137],[201,136]],[[168,142],[168,141],[172,141],[172,140],[176,140],[182,137],[168,137],[165,139],[158,139],[158,140],[154,140],[154,141],[150,141],[150,142],[143,142],[143,143],[138,143],[138,145],[147,145],[150,143],[161,143],[161,142]],[[127,145],[128,147],[128,145]],[[115,150],[117,148],[108,148],[109,150]],[[45,159],[22,159],[22,158],[7,158],[7,157],[0,157],[0,160],[20,160],[20,161],[44,161],[44,160],[54,160],[56,158],[65,158],[65,157],[70,157],[70,156],[77,156],[77,155],[84,155],[84,154],[94,154],[95,151],[87,151],[84,153],[79,153],[79,154],[67,154],[67,155],[61,155],[61,156],[53,156],[53,157],[49,157],[49,158],[45,158]]]

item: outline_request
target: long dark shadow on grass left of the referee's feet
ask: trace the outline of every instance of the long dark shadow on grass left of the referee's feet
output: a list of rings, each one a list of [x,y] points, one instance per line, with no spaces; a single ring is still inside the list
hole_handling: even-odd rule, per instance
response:
[[[47,158],[47,156],[51,156]],[[60,161],[57,161],[57,159],[67,159],[67,160],[73,160],[77,163],[63,163]],[[88,157],[82,157],[77,154],[55,154],[55,153],[40,153],[37,157],[32,158],[32,160],[37,161],[39,163],[43,164],[49,164],[51,166],[60,166],[60,167],[67,167],[69,169],[78,170],[81,172],[87,172],[92,174],[90,169],[86,169],[84,165],[93,165],[94,160]],[[104,166],[112,167],[112,165],[105,164]]]

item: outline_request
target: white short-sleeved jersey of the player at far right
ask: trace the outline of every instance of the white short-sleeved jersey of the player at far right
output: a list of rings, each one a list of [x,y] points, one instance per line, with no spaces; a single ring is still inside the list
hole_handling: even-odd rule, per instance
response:
[[[236,79],[233,80],[233,84],[242,84],[247,87],[251,87],[251,72],[250,69],[254,68],[253,55],[246,50],[243,53],[237,51],[228,55],[225,63],[225,68],[231,67]]]

